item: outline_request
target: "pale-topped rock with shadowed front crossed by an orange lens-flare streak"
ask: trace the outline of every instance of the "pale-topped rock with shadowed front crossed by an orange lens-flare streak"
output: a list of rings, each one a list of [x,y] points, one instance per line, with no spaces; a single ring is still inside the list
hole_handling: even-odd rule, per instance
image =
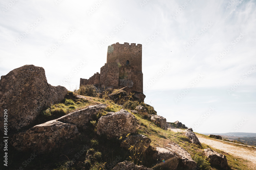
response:
[[[176,154],[168,149],[157,147],[155,153],[153,154],[153,159],[160,162],[157,167],[168,170],[176,170],[179,158]]]

